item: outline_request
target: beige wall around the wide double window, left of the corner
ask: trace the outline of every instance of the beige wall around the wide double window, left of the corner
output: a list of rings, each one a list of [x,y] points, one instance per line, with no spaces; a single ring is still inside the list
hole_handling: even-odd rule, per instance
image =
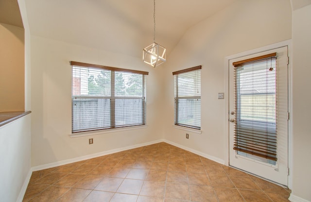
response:
[[[69,61],[148,71],[147,128],[69,137],[71,133],[71,66]],[[42,166],[163,138],[156,125],[161,75],[141,58],[31,36],[32,166]],[[94,143],[89,145],[88,138]]]

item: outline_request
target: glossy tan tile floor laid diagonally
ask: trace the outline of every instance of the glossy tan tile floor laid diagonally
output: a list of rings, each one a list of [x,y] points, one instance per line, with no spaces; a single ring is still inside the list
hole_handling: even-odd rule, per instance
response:
[[[289,195],[161,142],[35,171],[23,202],[289,202]]]

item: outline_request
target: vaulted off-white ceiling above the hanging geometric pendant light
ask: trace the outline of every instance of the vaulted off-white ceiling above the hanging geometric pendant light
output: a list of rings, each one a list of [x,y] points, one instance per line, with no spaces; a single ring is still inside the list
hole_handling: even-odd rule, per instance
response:
[[[156,0],[155,42],[169,54],[191,26],[236,0]],[[153,0],[25,0],[31,34],[135,57],[153,42]]]

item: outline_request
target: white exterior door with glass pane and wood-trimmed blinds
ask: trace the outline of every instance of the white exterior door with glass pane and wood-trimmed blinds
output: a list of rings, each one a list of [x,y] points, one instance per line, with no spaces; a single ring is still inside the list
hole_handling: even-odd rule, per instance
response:
[[[229,60],[229,165],[288,185],[288,47]]]

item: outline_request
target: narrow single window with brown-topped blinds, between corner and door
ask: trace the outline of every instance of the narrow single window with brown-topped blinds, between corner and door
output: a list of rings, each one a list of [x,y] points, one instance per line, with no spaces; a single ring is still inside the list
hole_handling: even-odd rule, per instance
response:
[[[173,72],[174,124],[201,129],[201,66]]]

